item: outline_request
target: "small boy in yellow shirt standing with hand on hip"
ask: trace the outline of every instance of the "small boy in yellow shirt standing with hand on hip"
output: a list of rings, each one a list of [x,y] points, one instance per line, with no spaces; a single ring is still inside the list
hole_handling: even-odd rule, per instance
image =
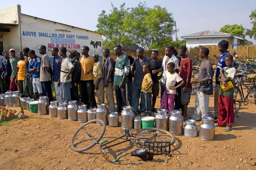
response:
[[[146,104],[146,110],[151,112],[152,109],[152,86],[154,85],[153,80],[151,79],[150,74],[151,65],[149,63],[146,63],[142,66],[143,73],[145,73],[142,85],[141,85],[141,91],[143,92],[144,98],[145,98],[145,104]],[[144,113],[141,113],[141,116],[144,116]],[[149,114],[151,116],[151,114]]]

